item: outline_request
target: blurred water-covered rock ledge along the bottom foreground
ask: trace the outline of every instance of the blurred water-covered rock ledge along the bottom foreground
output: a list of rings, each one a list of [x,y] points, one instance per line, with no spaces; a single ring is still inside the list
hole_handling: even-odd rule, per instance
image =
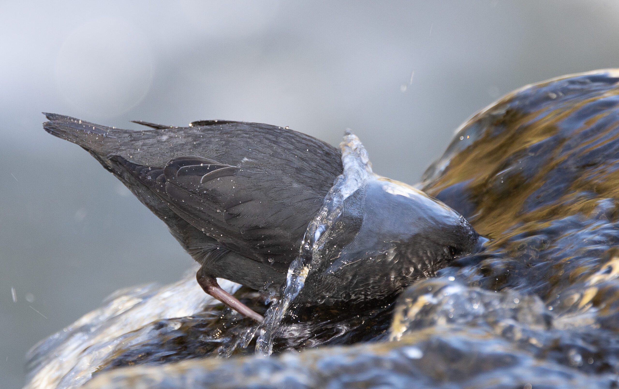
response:
[[[100,375],[87,389],[121,388],[612,388],[535,359],[483,333],[418,331],[399,341],[287,352],[276,357],[206,359]]]

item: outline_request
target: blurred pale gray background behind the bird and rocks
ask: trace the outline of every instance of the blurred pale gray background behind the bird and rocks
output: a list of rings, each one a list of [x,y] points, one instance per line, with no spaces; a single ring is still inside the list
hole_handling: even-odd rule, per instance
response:
[[[192,262],[41,111],[131,129],[266,122],[334,145],[350,127],[374,171],[414,184],[500,95],[619,67],[613,1],[2,1],[0,19],[2,388],[115,289]]]

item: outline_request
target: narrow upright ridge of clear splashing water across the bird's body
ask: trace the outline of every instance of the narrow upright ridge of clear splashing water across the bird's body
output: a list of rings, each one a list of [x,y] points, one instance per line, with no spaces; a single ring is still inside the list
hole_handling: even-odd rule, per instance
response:
[[[324,244],[333,234],[331,226],[342,215],[344,200],[365,186],[370,177],[373,176],[368,153],[358,137],[352,134],[350,130],[347,130],[344,135],[340,149],[342,150],[344,171],[335,179],[334,185],[324,198],[322,208],[309,222],[301,242],[299,255],[288,268],[286,286],[282,297],[267,310],[264,320],[264,333],[256,342],[256,351],[263,355],[271,355],[273,338],[279,329],[284,314],[303,288],[309,272],[319,265]]]

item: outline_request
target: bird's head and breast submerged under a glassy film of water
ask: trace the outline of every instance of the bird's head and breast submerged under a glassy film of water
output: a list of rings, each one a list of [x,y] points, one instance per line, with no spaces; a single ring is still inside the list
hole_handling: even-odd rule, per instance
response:
[[[392,296],[487,241],[439,200],[374,174],[345,200],[331,229],[300,296],[310,304]]]

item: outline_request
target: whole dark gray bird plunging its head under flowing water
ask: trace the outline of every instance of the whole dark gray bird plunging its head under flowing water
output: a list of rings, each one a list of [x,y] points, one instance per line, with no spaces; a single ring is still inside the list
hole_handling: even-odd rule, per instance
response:
[[[267,124],[137,122],[150,129],[136,131],[45,115],[47,132],[87,150],[167,224],[201,265],[197,281],[207,294],[258,321],[216,278],[279,292],[308,223],[342,173],[336,148]],[[456,211],[384,177],[350,195],[343,209],[295,300],[301,304],[392,296],[486,240]]]

